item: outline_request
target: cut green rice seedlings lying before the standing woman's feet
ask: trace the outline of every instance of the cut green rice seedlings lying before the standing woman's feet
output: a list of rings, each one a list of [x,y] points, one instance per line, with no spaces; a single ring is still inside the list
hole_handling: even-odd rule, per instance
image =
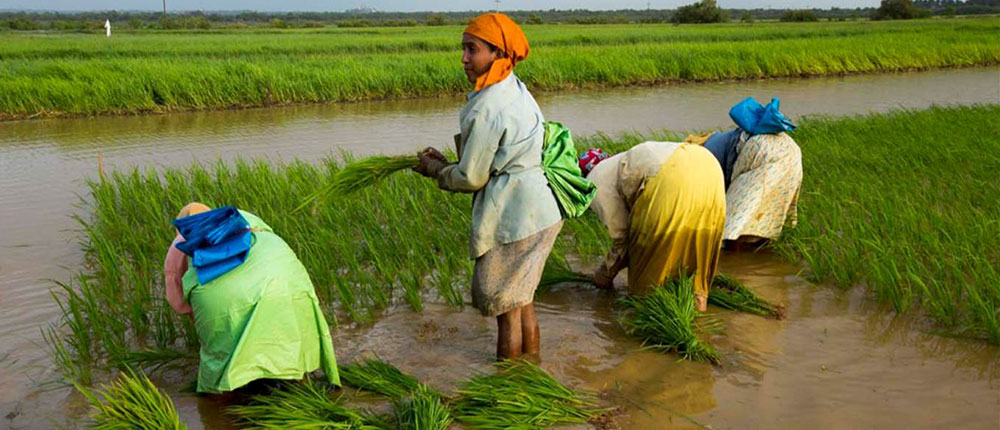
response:
[[[541,429],[585,423],[602,411],[524,360],[496,364],[496,374],[473,376],[458,389],[455,419],[470,429]]]

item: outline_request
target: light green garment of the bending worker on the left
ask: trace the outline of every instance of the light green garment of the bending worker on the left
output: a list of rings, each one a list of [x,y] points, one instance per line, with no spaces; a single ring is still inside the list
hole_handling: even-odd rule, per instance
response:
[[[301,379],[320,367],[339,385],[330,328],[305,266],[264,221],[240,214],[253,231],[246,261],[205,285],[192,265],[184,274],[201,342],[198,392],[232,391],[256,379]]]

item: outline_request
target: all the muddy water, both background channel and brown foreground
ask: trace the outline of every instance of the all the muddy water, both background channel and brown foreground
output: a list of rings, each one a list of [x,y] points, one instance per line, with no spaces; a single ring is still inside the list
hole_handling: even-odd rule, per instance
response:
[[[548,119],[564,122],[577,134],[614,134],[626,130],[726,127],[728,107],[751,95],[762,101],[780,96],[783,110],[793,118],[931,104],[996,103],[1000,101],[1000,69],[540,94],[538,100]],[[72,404],[68,390],[48,391],[50,386],[44,385],[53,377],[53,371],[39,348],[39,327],[53,322],[58,315],[49,297],[52,283],[48,280],[65,280],[79,267],[81,255],[73,231],[76,225],[69,215],[77,210],[76,195],[85,192],[83,180],[96,176],[99,158],[105,168],[158,168],[217,157],[315,159],[339,149],[370,154],[445,146],[456,128],[456,112],[461,104],[460,99],[442,98],[0,123],[0,428],[47,427],[43,423],[49,423],[53,416],[68,418],[62,416]],[[746,278],[759,271],[778,270],[771,267],[776,261],[758,262],[759,267],[748,267],[747,271],[734,269],[734,274]],[[617,394],[621,397],[619,403],[639,402],[635,410],[646,411],[626,415],[638,426],[635,428],[648,428],[639,426],[643,423],[667,422],[662,414],[654,412],[660,408],[672,408],[684,416],[696,417],[698,422],[704,419],[716,428],[725,423],[741,427],[734,424],[739,422],[765,426],[776,420],[788,420],[793,428],[807,423],[840,427],[835,420],[845,419],[845,415],[853,417],[856,412],[863,417],[845,422],[894,427],[910,419],[918,424],[924,422],[916,417],[940,410],[937,404],[950,405],[942,412],[948,419],[959,419],[957,415],[982,418],[976,411],[992,412],[994,417],[1000,414],[995,348],[943,340],[921,334],[922,330],[912,324],[883,321],[876,317],[882,312],[869,309],[857,293],[835,294],[828,288],[817,289],[797,281],[792,284],[801,288],[792,288],[785,285],[785,275],[761,276],[770,279],[758,282],[774,288],[768,291],[790,294],[790,300],[806,303],[798,307],[793,304],[792,311],[801,313],[793,313],[788,322],[733,317],[733,327],[718,341],[721,345],[731,342],[733,351],[744,351],[737,354],[742,358],[738,370],[711,370],[634,352],[636,345],[625,340],[613,323],[608,299],[592,293],[553,293],[543,299],[540,312],[550,321],[547,330],[555,337],[562,327],[571,339],[576,339],[567,341],[562,348],[547,344],[545,367],[564,380],[597,390],[605,389],[601,384],[622,381]],[[390,334],[416,330],[405,324],[413,318],[405,312],[392,314],[371,330]],[[473,368],[486,362],[484,357],[489,356],[493,336],[491,326],[474,313],[429,311],[419,318],[431,321],[428,324],[435,319],[452,325],[463,321],[461,341],[467,343],[437,353],[415,354],[411,361],[399,363],[405,369],[432,383],[446,384],[445,376],[427,372],[439,367],[442,375],[452,372],[437,364],[425,365],[416,355]],[[820,325],[823,330],[818,328]],[[472,328],[478,331],[469,332]],[[836,345],[832,356],[829,348],[822,348],[824,343],[819,342],[828,333],[836,334],[826,339]],[[370,349],[371,342],[389,344],[386,339],[394,339],[388,334],[364,332],[339,333],[338,337],[342,338],[338,348],[346,357]],[[559,342],[559,338],[550,339]],[[446,338],[440,342],[449,345]],[[838,357],[840,350],[844,355]],[[382,355],[400,361],[390,351]],[[824,362],[825,357],[831,361]],[[976,364],[984,361],[994,365]],[[831,363],[840,368],[831,370]],[[827,371],[807,376],[814,365],[821,369],[826,366]],[[783,371],[776,372],[778,366]],[[670,378],[656,383],[641,375],[629,376],[636,369],[649,367]],[[464,376],[455,373],[456,377]],[[679,380],[692,382],[675,384]],[[720,391],[720,387],[727,386],[733,389]],[[875,391],[862,397],[862,388]],[[967,392],[978,393],[971,403],[941,403],[941,398],[964,396]],[[872,397],[875,393],[881,393],[881,403]],[[812,401],[813,397],[820,400]],[[854,402],[855,397],[867,401]],[[181,399],[186,416],[195,421],[199,409],[213,409],[204,404],[192,409],[190,399]],[[984,406],[988,399],[992,399],[992,407]],[[880,410],[885,408],[894,408],[897,413],[881,421],[886,414]],[[914,410],[903,414],[907,408]],[[647,413],[657,418],[643,421]],[[686,421],[677,418],[682,415],[670,415],[670,422],[683,424]],[[211,413],[206,416],[214,417]]]

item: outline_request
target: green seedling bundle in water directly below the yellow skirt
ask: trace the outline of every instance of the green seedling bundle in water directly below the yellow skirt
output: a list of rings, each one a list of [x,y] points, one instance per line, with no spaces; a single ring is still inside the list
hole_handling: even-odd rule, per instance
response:
[[[719,363],[719,352],[698,338],[699,333],[716,330],[718,322],[698,315],[692,278],[670,281],[646,296],[627,297],[620,303],[629,308],[626,330],[647,347],[677,352],[687,360]]]

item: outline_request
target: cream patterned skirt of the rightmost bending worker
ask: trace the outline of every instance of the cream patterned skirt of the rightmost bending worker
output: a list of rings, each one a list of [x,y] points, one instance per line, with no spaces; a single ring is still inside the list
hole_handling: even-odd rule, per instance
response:
[[[758,134],[738,146],[732,184],[726,190],[726,228],[722,238],[777,239],[785,225],[798,221],[802,152],[785,133]]]

